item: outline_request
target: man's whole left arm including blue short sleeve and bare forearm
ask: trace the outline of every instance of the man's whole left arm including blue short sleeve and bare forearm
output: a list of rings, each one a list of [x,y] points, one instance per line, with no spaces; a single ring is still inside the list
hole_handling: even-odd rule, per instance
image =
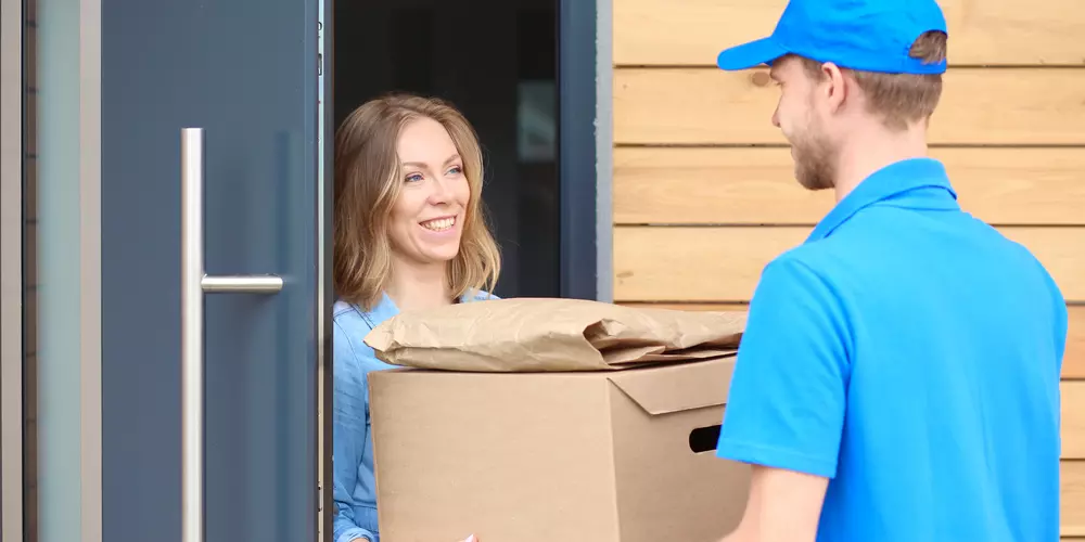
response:
[[[813,542],[835,475],[851,375],[840,293],[788,255],[769,263],[750,305],[716,454],[753,468],[726,542]]]

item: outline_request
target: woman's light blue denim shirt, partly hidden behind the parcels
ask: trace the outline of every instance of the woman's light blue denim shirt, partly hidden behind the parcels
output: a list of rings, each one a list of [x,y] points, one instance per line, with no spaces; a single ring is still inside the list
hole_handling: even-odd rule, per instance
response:
[[[497,299],[481,292],[474,299]],[[384,295],[371,311],[344,301],[332,308],[335,387],[333,396],[332,468],[334,469],[335,522],[333,542],[366,538],[381,542],[376,526],[376,486],[373,481],[373,442],[369,422],[369,383],[371,371],[394,365],[376,359],[366,345],[366,335],[381,322],[399,313]]]

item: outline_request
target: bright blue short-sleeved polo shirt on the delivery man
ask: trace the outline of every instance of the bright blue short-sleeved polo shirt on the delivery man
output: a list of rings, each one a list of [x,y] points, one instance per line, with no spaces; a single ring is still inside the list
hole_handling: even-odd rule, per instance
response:
[[[765,267],[717,454],[829,478],[818,541],[1057,541],[1065,337],[1033,255],[893,164]]]

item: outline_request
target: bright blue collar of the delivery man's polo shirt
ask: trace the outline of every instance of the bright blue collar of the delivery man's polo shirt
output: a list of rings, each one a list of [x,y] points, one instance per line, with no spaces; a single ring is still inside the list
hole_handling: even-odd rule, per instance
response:
[[[908,158],[890,164],[864,179],[818,222],[806,243],[828,237],[859,210],[888,199],[903,199],[901,206],[911,208],[960,208],[957,192],[949,184],[949,177],[941,162]]]

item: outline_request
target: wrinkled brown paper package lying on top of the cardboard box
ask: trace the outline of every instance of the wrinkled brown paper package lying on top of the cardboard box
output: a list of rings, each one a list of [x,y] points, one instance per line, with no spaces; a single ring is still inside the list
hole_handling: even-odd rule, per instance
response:
[[[515,298],[404,312],[366,337],[387,363],[474,372],[599,371],[735,353],[744,311]]]

